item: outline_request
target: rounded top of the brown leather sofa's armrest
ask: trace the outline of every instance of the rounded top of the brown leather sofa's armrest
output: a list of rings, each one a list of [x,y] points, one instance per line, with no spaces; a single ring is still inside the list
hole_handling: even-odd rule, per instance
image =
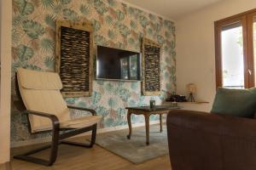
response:
[[[167,126],[201,131],[201,133],[256,141],[256,120],[249,118],[223,116],[201,111],[174,110],[168,114],[166,124]]]

